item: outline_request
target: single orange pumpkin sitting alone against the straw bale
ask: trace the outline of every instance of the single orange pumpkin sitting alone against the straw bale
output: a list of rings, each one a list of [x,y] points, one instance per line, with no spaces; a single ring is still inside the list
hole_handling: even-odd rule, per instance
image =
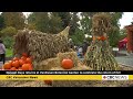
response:
[[[71,69],[71,68],[73,67],[73,62],[72,62],[72,59],[69,59],[69,58],[63,59],[63,61],[62,61],[62,67],[63,67],[64,69]]]

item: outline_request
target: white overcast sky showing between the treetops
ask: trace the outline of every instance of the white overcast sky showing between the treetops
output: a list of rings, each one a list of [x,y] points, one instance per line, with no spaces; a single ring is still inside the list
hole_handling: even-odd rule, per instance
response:
[[[0,12],[1,13],[1,12]],[[31,12],[23,12],[28,16]],[[124,12],[122,19],[120,19],[120,29],[123,29],[125,25],[130,25],[133,21],[133,12]]]

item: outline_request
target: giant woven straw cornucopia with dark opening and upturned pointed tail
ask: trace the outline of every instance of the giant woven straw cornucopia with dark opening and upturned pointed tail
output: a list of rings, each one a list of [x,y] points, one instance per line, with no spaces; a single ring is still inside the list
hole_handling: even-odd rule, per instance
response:
[[[17,33],[13,52],[21,56],[28,53],[35,62],[55,57],[59,52],[69,51],[69,26],[58,34],[48,34],[39,31],[22,30]]]

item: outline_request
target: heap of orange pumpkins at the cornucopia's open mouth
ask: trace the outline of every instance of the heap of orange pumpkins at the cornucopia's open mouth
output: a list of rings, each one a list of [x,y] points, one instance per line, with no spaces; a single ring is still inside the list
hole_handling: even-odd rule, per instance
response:
[[[13,57],[2,66],[2,70],[32,70],[32,57],[27,53],[22,53],[21,57]]]

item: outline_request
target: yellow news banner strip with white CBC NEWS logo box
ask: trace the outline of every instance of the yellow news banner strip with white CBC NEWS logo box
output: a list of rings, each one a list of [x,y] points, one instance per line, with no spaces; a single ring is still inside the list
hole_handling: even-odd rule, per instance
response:
[[[0,75],[0,80],[133,80],[133,75]]]

